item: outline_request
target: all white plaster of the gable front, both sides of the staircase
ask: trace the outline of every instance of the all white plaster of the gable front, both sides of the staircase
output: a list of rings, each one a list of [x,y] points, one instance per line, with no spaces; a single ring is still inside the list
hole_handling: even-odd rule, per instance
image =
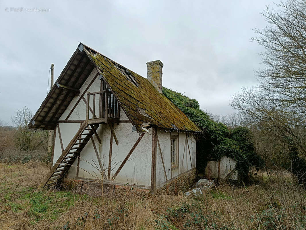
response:
[[[80,95],[87,88],[88,84],[91,82],[93,77],[96,75],[97,71],[94,69],[88,79],[85,81],[84,85],[80,88]],[[98,77],[87,90],[89,92],[100,91],[100,80]],[[73,106],[76,104],[80,95],[73,98],[70,105],[64,111],[59,120],[65,120],[67,115],[70,113]],[[86,94],[84,95],[86,98]],[[91,98],[92,99],[92,98]],[[98,100],[96,98],[96,110],[95,114],[98,115]],[[90,106],[92,108],[92,100],[90,101]],[[86,116],[86,104],[81,99],[79,104],[73,110],[73,113],[69,117],[69,121],[73,120],[85,120]],[[90,113],[90,118],[91,118]],[[129,118],[121,109],[120,111],[120,120],[127,121]],[[70,140],[76,134],[80,128],[80,123],[59,123],[63,147],[68,145]],[[135,144],[136,140],[139,137],[137,132],[132,132],[131,123],[120,123],[120,125],[114,124],[114,132],[117,136],[119,145],[116,145],[115,140],[113,139],[113,148],[112,148],[112,161],[111,161],[111,178],[114,173],[117,171],[118,167],[125,159],[126,155]],[[121,169],[114,182],[120,183],[129,183],[129,184],[138,184],[143,186],[151,185],[151,148],[152,148],[152,131],[146,133],[140,143],[137,145],[132,155],[129,157],[129,160],[125,163],[124,167]],[[102,141],[99,144],[96,136],[93,136],[95,145],[99,152],[99,157],[102,161],[105,174],[108,174],[108,159],[109,159],[109,149],[110,149],[110,127],[109,125],[103,124],[100,125],[97,129],[97,133]],[[55,146],[54,146],[54,163],[57,161],[59,156],[62,154],[61,144],[58,136],[58,130],[55,137]],[[73,163],[73,166],[70,167],[68,176],[76,176],[76,167],[77,161]],[[98,159],[95,154],[91,140],[86,144],[84,149],[80,154],[80,168],[79,168],[79,177],[84,178],[102,178]]]

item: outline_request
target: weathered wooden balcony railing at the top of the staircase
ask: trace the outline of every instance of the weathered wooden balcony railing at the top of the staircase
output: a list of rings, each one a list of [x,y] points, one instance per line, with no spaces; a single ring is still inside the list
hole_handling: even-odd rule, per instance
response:
[[[96,100],[97,98],[99,98],[99,101]],[[96,113],[97,109],[98,113]],[[112,120],[110,118],[119,118],[119,111],[119,103],[109,89],[87,93],[86,120],[89,123],[107,123]]]

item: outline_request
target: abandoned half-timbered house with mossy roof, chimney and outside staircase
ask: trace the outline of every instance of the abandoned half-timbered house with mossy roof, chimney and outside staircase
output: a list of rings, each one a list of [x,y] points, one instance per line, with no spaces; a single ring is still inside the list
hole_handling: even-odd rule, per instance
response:
[[[54,130],[40,187],[103,181],[155,193],[194,182],[200,129],[162,94],[162,67],[148,62],[144,78],[80,43],[28,125]]]

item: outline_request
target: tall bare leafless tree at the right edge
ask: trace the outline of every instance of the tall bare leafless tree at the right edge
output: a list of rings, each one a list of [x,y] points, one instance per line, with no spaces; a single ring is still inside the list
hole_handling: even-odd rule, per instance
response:
[[[306,2],[274,7],[266,7],[262,15],[268,25],[254,29],[257,37],[252,38],[265,48],[263,68],[256,71],[259,84],[242,88],[231,105],[250,127],[277,139],[274,150],[282,145],[294,164],[306,156]]]

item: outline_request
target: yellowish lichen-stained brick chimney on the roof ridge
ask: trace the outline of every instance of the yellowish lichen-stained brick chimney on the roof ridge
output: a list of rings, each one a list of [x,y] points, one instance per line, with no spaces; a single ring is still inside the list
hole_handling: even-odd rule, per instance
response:
[[[147,62],[147,79],[151,82],[151,84],[162,93],[162,67],[164,64],[160,61],[151,61]]]

